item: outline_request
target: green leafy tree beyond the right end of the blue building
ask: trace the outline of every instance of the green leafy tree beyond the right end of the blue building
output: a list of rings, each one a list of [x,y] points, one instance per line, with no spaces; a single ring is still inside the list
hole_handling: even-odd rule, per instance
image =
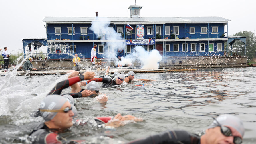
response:
[[[234,36],[245,36],[246,38],[246,56],[249,56],[247,61],[251,61],[255,58],[256,54],[256,37],[255,34],[251,31],[243,31],[234,34]],[[232,45],[232,50],[244,50],[245,46],[244,43],[240,40],[237,40]]]

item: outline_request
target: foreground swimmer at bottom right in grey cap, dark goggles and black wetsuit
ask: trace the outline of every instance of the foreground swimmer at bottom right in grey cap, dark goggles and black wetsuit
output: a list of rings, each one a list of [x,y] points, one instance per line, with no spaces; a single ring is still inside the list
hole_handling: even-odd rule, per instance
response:
[[[182,130],[167,131],[138,139],[127,144],[240,144],[245,129],[242,121],[233,115],[220,115],[201,137]]]

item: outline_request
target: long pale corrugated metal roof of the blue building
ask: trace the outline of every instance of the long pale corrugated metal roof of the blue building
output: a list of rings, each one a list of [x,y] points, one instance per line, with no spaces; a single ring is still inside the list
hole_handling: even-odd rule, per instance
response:
[[[101,17],[99,17],[101,18]],[[200,21],[230,21],[222,17],[141,17],[141,18],[130,18],[130,17],[102,17],[112,22],[148,22],[148,21],[181,21],[181,22],[200,22]],[[45,22],[91,22],[96,17],[45,17]]]

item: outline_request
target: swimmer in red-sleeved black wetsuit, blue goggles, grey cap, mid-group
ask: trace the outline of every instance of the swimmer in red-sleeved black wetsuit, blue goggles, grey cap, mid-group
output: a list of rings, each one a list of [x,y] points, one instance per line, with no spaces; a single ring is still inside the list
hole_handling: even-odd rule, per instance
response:
[[[88,80],[86,82],[83,82],[84,85],[89,84],[91,81],[95,82],[102,82],[104,83],[101,87],[107,88],[111,85],[120,85],[124,81],[124,75],[119,74],[116,78],[116,80],[113,80],[112,78],[93,78],[91,80]]]

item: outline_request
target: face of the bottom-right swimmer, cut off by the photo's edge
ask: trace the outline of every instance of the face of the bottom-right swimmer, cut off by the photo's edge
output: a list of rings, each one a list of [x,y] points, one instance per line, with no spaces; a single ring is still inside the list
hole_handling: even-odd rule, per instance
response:
[[[221,133],[221,127],[214,127],[214,128],[210,128],[207,129],[205,131],[205,139],[206,139],[206,143],[208,144],[226,144],[226,143],[230,143],[230,144],[234,144],[234,136],[236,137],[241,137],[242,135],[236,131],[233,127],[229,127],[231,129],[232,135],[233,136],[225,136]]]

